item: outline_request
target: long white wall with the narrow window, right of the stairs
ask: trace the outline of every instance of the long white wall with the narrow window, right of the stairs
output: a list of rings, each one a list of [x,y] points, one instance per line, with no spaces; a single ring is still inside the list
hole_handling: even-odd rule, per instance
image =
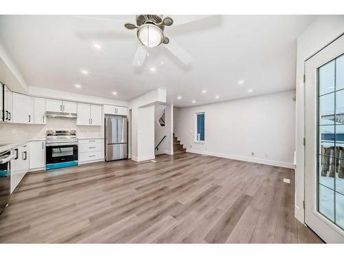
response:
[[[175,109],[175,136],[186,151],[292,168],[294,94],[279,92]],[[204,144],[194,142],[197,112],[205,112]]]

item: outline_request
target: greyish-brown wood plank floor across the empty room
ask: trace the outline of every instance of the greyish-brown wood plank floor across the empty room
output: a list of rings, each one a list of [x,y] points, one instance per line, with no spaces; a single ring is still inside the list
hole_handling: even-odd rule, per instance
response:
[[[294,218],[292,169],[193,153],[155,160],[25,175],[0,242],[322,242]]]

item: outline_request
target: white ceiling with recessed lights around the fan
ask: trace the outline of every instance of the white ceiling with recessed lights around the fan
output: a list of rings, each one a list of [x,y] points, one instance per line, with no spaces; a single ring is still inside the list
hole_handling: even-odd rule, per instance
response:
[[[175,25],[194,18],[171,17]],[[135,20],[133,15],[106,18]],[[186,107],[294,89],[297,36],[314,18],[211,16],[166,27],[165,33],[193,56],[187,66],[160,45],[149,50],[143,67],[133,67],[136,32],[105,19],[2,16],[0,40],[28,85],[121,100],[160,87],[169,103]],[[80,73],[83,69],[89,76]]]

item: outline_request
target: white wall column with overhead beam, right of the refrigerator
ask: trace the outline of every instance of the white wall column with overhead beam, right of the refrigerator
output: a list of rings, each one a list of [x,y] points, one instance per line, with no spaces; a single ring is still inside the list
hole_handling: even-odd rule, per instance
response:
[[[166,91],[155,89],[129,101],[131,109],[131,159],[151,160],[154,155],[154,105],[166,103]]]

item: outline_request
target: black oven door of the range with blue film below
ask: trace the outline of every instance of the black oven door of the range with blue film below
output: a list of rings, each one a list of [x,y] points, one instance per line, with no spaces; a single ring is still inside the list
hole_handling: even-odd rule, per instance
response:
[[[78,143],[47,143],[45,169],[57,169],[78,164]]]

